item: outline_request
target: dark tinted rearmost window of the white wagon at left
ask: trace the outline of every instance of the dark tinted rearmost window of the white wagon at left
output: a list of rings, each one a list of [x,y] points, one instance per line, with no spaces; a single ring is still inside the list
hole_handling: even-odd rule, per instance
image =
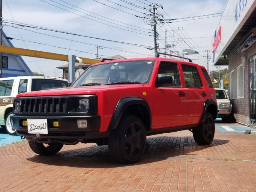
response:
[[[54,79],[32,79],[31,91],[68,87],[68,82]]]

